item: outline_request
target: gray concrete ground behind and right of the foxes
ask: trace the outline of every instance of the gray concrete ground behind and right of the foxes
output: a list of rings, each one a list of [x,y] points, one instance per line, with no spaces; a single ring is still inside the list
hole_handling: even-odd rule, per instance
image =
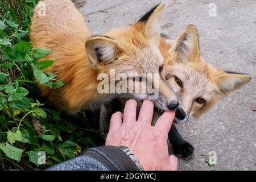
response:
[[[81,0],[80,0],[81,1]],[[80,7],[92,34],[136,22],[163,0],[88,0]],[[217,16],[209,16],[215,3]],[[228,71],[251,75],[244,88],[220,101],[195,125],[180,127],[195,147],[194,159],[179,160],[180,170],[256,169],[256,1],[166,1],[162,31],[175,38],[188,24],[199,31],[201,55]],[[189,137],[190,136],[190,137]],[[210,151],[217,164],[204,162]]]

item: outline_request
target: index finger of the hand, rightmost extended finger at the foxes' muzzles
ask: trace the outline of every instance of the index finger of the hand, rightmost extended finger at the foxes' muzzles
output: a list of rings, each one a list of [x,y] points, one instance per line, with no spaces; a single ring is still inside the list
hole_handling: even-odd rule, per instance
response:
[[[168,134],[171,129],[172,122],[175,118],[174,111],[164,111],[158,121],[156,121],[155,127],[164,134]]]

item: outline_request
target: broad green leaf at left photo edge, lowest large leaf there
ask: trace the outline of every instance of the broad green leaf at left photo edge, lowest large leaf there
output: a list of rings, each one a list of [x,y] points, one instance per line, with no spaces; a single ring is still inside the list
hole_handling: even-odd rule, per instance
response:
[[[14,159],[18,162],[20,161],[23,152],[22,149],[11,146],[9,143],[6,143],[6,145],[0,143],[0,148],[10,159]]]

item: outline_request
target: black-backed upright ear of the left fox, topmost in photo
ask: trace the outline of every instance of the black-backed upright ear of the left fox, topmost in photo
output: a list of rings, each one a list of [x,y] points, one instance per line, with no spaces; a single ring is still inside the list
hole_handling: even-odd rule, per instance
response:
[[[164,2],[148,11],[138,23],[145,23],[144,35],[147,38],[155,38],[160,35],[161,19],[164,9]]]

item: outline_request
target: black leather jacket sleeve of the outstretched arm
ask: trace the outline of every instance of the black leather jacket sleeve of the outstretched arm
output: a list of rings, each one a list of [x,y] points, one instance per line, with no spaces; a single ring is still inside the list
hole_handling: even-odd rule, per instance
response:
[[[118,147],[89,148],[84,154],[49,167],[47,171],[137,171],[138,167]]]

